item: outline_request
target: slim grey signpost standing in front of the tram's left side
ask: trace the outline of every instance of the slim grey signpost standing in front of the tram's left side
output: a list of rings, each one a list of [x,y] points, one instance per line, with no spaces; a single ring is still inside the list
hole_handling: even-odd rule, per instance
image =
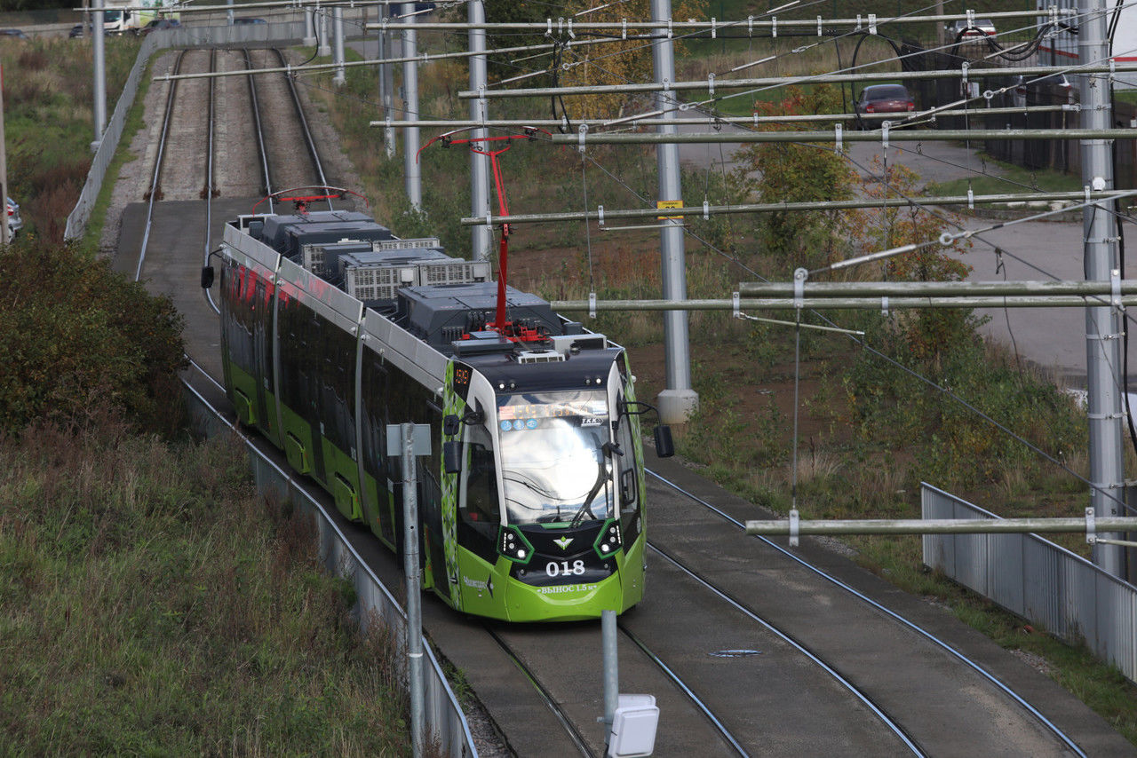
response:
[[[402,572],[407,577],[407,678],[410,734],[415,758],[423,755],[423,633],[418,589],[418,475],[415,472],[415,425],[400,424],[402,441]]]

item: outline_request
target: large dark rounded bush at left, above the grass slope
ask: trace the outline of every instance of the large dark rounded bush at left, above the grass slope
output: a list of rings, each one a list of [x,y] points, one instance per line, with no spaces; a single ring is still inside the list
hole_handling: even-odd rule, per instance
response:
[[[0,430],[105,411],[169,432],[182,317],[106,261],[28,241],[0,250]]]

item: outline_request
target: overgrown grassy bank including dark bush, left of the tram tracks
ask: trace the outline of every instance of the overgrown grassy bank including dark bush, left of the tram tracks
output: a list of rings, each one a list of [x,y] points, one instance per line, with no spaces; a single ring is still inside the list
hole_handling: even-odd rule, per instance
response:
[[[111,106],[136,50],[108,40]],[[168,301],[59,242],[90,165],[90,45],[0,56],[27,224],[0,251],[0,743],[409,755],[390,645],[379,624],[360,636],[309,520],[255,495],[239,443],[172,426]],[[141,123],[136,105],[126,142]]]

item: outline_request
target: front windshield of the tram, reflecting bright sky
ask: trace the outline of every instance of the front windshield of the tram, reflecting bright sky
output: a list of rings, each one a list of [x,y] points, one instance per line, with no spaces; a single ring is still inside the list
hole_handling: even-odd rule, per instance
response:
[[[612,516],[604,390],[498,397],[501,476],[511,524],[579,524]]]

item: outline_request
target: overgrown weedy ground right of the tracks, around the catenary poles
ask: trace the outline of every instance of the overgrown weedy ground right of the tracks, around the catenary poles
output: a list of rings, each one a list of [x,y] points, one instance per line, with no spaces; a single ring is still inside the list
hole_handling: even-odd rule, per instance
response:
[[[688,57],[682,61],[688,73],[706,69],[704,61],[692,63]],[[808,70],[806,65],[803,73]],[[424,66],[420,76],[426,92],[422,98],[426,116],[460,117],[466,113],[466,103],[455,97],[464,86],[462,66]],[[332,94],[330,86],[319,84],[317,89],[341,133],[342,149],[356,161],[368,195],[376,201],[376,215],[402,234],[441,230],[451,250],[468,251],[468,230],[457,224],[470,207],[466,151],[434,145],[422,153],[425,214],[408,215],[401,199],[401,163],[385,159],[381,131],[367,127],[379,113],[371,75],[349,69],[342,97]],[[547,113],[548,107],[547,101],[496,100],[491,101],[491,114],[521,118]],[[571,102],[567,107],[572,111]],[[430,132],[424,132],[424,141],[429,136]],[[594,147],[588,156],[582,170],[573,150],[518,143],[503,160],[511,210],[650,207],[655,195],[653,152],[634,147]],[[717,159],[717,151],[712,157]],[[748,198],[745,183],[724,174],[719,165],[686,172],[683,186],[689,206],[704,198],[712,205]],[[870,216],[861,226],[872,228],[881,220]],[[739,281],[760,276],[787,280],[792,261],[758,250],[762,225],[762,219],[744,216],[690,223],[689,297],[727,297]],[[654,298],[659,297],[657,255],[657,235],[650,231],[600,232],[595,225],[586,230],[582,224],[517,225],[511,244],[511,274],[514,284],[536,288],[553,299],[584,298],[590,291],[601,299]],[[875,274],[862,273],[866,278]],[[880,353],[951,386],[1065,467],[1086,475],[1080,411],[1049,377],[1022,368],[1005,351],[984,344],[976,336],[973,319],[921,363],[902,339],[910,317],[886,319],[852,313],[830,317],[844,326],[864,328],[869,344]],[[681,452],[720,483],[786,513],[796,370],[792,331],[712,313],[692,313],[690,325],[700,409],[687,428],[677,430]],[[663,389],[657,317],[606,315],[589,326],[629,345],[642,397],[650,398]],[[921,481],[970,497],[1004,516],[1082,513],[1087,502],[1082,482],[1061,466],[1035,457],[1020,442],[999,434],[872,350],[855,348],[847,338],[804,332],[802,356],[797,481],[798,507],[807,517],[919,517]],[[1127,456],[1131,467],[1134,456]],[[918,538],[862,538],[849,543],[857,560],[871,570],[911,592],[946,602],[961,619],[999,644],[1045,659],[1052,677],[1137,743],[1137,690],[1115,670],[1084,649],[1036,633],[1021,619],[927,573]],[[1076,536],[1064,543],[1085,551],[1084,541]]]

